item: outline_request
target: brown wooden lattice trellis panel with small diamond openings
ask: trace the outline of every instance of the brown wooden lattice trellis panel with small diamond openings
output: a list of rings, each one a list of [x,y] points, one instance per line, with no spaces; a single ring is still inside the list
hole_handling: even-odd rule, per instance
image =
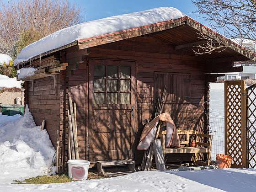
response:
[[[245,81],[225,82],[225,154],[232,167],[247,167],[245,131]]]

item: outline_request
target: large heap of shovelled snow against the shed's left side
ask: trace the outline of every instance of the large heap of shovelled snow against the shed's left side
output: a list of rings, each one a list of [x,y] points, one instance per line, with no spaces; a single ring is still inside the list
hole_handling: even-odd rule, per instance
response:
[[[0,115],[0,183],[54,171],[49,169],[54,153],[47,131],[35,125],[28,106],[24,117]]]

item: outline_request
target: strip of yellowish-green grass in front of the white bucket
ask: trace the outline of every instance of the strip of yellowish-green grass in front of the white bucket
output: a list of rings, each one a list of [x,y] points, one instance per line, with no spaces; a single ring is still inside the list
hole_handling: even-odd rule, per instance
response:
[[[53,176],[37,176],[24,181],[14,180],[16,184],[48,184],[48,183],[67,183],[73,181],[66,175],[53,175]]]

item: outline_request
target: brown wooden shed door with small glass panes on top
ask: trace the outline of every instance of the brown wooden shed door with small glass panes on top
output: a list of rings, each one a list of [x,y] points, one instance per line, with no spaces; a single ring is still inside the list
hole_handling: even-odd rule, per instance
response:
[[[133,159],[135,62],[89,60],[89,160]]]

